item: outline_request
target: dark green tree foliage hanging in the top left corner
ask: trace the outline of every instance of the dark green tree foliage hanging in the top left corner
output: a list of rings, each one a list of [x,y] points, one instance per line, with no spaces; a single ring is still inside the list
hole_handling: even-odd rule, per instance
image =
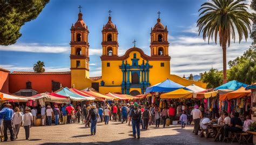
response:
[[[49,0],[0,1],[0,45],[15,44],[21,26],[35,19]]]

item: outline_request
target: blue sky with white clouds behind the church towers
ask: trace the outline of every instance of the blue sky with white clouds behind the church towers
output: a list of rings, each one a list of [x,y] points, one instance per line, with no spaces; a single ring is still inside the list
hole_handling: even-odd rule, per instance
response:
[[[46,71],[69,71],[70,27],[77,21],[81,5],[83,19],[89,27],[90,76],[101,75],[102,27],[111,10],[112,22],[118,28],[119,55],[133,46],[150,55],[150,30],[161,22],[169,30],[171,73],[183,76],[197,75],[212,66],[222,69],[222,49],[219,45],[204,42],[198,36],[196,21],[200,5],[207,0],[52,0],[39,16],[21,28],[22,37],[15,45],[0,46],[0,67],[11,71],[32,71],[38,60],[44,61]],[[247,0],[246,3],[250,3]],[[227,60],[233,60],[248,49],[252,40],[231,44]]]

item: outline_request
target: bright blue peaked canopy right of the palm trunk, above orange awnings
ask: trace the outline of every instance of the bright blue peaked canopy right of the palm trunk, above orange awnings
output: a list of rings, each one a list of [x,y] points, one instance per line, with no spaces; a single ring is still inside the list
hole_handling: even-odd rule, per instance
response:
[[[233,80],[233,81],[230,81],[230,82],[227,82],[223,85],[218,86],[214,90],[220,90],[220,89],[237,90],[241,87],[245,88],[246,86],[247,86],[247,84],[244,84],[244,83]]]

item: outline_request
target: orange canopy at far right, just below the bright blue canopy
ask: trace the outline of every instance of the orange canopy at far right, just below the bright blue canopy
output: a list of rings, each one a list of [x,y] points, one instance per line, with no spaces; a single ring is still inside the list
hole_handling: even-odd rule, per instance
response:
[[[225,99],[230,100],[230,99],[238,99],[246,96],[251,96],[251,91],[245,90],[245,88],[241,86],[241,88],[239,88],[238,90],[220,95],[220,98],[221,100],[225,100]]]

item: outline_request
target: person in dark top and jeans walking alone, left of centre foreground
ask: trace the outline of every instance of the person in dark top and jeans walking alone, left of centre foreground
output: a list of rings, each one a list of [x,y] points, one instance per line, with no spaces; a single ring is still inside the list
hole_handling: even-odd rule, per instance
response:
[[[96,134],[96,125],[97,125],[97,119],[99,117],[98,110],[95,105],[91,106],[91,109],[89,110],[89,115],[86,120],[89,120],[91,118],[91,135]]]

